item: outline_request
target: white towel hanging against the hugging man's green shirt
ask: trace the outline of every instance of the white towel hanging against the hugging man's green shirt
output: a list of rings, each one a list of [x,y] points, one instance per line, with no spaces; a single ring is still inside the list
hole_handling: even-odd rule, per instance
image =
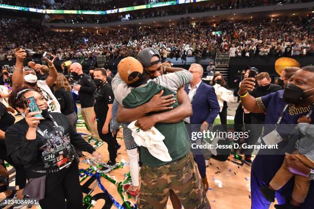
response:
[[[135,126],[135,121],[131,122],[128,128],[132,131],[134,141],[139,146],[148,149],[148,152],[155,158],[168,162],[172,158],[169,155],[168,149],[163,142],[165,136],[162,135],[155,127],[150,128],[148,131],[143,131]]]

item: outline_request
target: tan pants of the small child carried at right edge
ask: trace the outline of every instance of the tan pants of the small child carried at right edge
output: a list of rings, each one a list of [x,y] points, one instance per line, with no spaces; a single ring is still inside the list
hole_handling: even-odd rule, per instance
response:
[[[309,160],[307,157],[304,155],[295,155],[297,158],[301,160],[306,166],[309,166],[310,168],[314,168],[314,162]],[[291,173],[288,168],[285,166],[285,163],[283,163],[276,173],[276,175],[272,178],[270,181],[269,185],[274,189],[274,190],[279,190],[282,186],[284,186],[290,178],[295,175]],[[305,176],[300,176],[300,175],[295,175],[295,185],[293,186],[293,192],[292,192],[292,199],[303,203],[308,190],[310,186],[310,180],[308,177]]]

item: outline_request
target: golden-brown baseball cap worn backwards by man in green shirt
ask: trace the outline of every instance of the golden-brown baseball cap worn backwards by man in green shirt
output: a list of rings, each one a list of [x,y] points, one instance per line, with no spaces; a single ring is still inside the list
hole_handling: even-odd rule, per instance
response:
[[[134,57],[126,57],[121,59],[117,66],[118,73],[126,84],[131,84],[140,79],[143,74],[144,68],[141,62]]]

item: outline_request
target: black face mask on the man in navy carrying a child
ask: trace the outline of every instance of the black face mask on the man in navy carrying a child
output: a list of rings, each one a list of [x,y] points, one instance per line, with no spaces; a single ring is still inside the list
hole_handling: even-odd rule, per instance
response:
[[[314,89],[314,88],[312,88]],[[283,94],[283,100],[287,103],[293,103],[293,104],[300,104],[304,102],[305,99],[311,97],[305,95],[305,92],[310,91],[312,89],[304,91],[303,89],[299,88],[298,86],[294,85],[293,83],[287,83],[284,94]]]

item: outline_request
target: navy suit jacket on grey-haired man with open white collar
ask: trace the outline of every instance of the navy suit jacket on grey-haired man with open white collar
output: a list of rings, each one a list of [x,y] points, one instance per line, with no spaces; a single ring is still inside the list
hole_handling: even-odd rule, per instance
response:
[[[188,87],[189,85],[186,85],[184,88],[186,93]],[[192,109],[191,124],[202,124],[206,120],[212,125],[220,111],[215,89],[202,81],[194,96]]]

